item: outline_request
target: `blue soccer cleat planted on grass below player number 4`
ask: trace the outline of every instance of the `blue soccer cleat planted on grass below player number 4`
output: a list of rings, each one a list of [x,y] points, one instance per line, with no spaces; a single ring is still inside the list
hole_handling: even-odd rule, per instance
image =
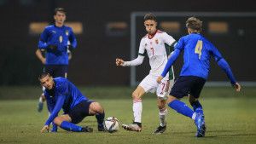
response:
[[[196,113],[195,125],[197,128],[196,137],[204,137],[206,133],[205,117],[202,113]]]

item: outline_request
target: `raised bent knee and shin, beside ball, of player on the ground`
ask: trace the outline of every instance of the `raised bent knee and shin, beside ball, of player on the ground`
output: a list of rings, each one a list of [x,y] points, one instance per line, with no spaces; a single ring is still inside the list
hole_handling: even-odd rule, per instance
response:
[[[105,112],[103,107],[98,102],[91,102],[89,107],[89,114],[96,115],[97,124],[98,124],[98,131],[105,131],[104,129],[104,118]]]

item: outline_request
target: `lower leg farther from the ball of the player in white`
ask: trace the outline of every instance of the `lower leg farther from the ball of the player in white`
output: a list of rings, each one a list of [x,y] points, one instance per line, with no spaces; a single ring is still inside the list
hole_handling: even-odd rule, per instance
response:
[[[160,125],[156,128],[156,130],[154,130],[154,134],[162,134],[163,132],[166,131],[166,100],[162,97],[158,97],[157,105],[159,108]]]

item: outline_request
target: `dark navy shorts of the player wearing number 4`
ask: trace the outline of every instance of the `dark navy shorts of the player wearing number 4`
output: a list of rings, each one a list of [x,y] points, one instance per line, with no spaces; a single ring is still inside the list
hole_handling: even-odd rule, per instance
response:
[[[173,84],[170,95],[177,99],[184,96],[193,95],[198,98],[201,93],[201,89],[206,83],[206,79],[195,76],[180,76]]]

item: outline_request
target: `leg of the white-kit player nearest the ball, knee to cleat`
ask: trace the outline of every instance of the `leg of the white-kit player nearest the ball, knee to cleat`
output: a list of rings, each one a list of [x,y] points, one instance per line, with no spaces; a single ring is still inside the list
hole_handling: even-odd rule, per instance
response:
[[[125,130],[131,131],[142,131],[142,112],[143,112],[143,103],[142,96],[145,94],[145,90],[141,86],[137,86],[137,89],[132,93],[132,109],[134,122],[132,124],[122,124],[122,127]]]

